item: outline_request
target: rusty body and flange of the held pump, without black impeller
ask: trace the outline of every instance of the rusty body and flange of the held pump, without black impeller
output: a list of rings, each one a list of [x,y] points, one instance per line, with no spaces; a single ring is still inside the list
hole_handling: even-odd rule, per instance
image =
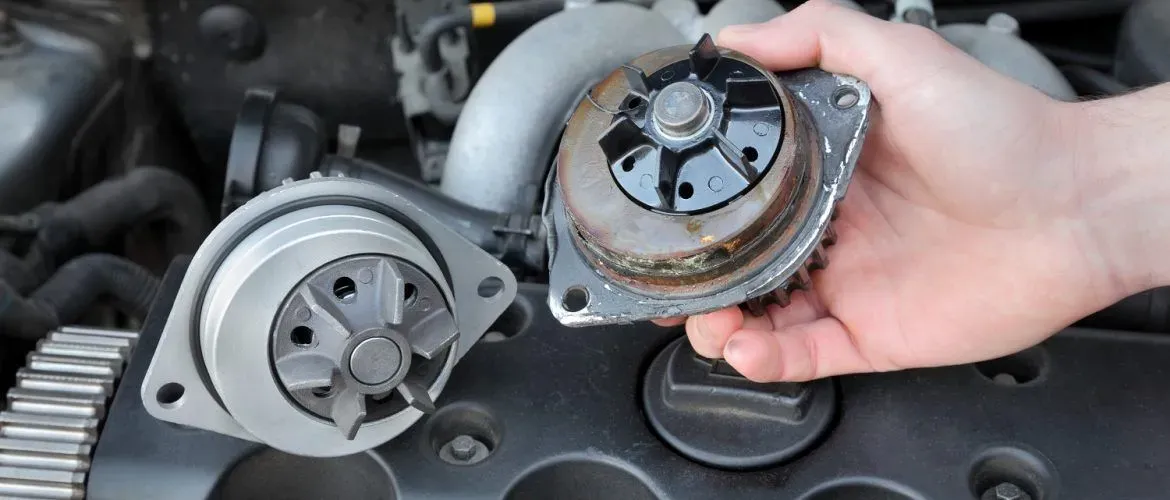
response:
[[[627,66],[653,75],[686,57],[687,47],[674,47]],[[549,307],[562,323],[625,323],[749,301],[758,311],[811,286],[810,272],[826,265],[830,220],[860,155],[870,93],[856,78],[819,69],[768,78],[784,108],[773,163],[737,198],[702,213],[652,210],[618,185],[620,165],[613,169],[613,155],[606,158],[597,141],[628,105],[628,70],[619,68],[581,101],[544,212]]]

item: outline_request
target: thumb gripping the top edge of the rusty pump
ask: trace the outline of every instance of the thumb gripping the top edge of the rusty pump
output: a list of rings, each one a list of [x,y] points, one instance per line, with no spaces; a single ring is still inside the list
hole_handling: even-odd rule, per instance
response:
[[[833,4],[810,1],[760,25],[729,26],[721,46],[739,50],[776,70],[820,67],[869,82],[906,71],[928,54],[928,29],[887,22]],[[940,46],[938,43],[934,43]]]

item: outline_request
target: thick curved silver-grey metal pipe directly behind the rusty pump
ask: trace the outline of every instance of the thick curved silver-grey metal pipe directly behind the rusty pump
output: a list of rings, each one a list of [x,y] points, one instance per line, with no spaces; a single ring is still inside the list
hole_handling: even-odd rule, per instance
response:
[[[639,55],[686,42],[666,18],[627,4],[537,22],[472,89],[440,190],[480,208],[531,213],[565,118],[586,88]]]

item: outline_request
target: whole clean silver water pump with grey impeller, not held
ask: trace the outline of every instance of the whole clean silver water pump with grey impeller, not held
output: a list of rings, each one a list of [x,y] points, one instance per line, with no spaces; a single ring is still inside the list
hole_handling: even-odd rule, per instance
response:
[[[393,191],[290,181],[195,254],[142,397],[157,418],[291,453],[378,446],[433,410],[511,302],[507,267]]]

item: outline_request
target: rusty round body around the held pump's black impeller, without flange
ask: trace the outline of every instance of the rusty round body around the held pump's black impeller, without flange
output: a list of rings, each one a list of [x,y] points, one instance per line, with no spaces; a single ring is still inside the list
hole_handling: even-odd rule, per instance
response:
[[[647,54],[629,66],[654,74],[686,61],[689,46]],[[724,57],[756,64],[746,56],[723,49]],[[789,95],[770,73],[784,109],[792,109]],[[610,75],[583,100],[565,128],[557,158],[559,194],[570,207],[578,244],[597,254],[591,260],[606,274],[632,288],[669,290],[707,280],[718,280],[730,267],[758,253],[760,242],[782,230],[785,208],[798,194],[803,177],[812,174],[817,162],[801,162],[813,141],[807,125],[784,117],[784,137],[769,169],[756,187],[727,206],[697,215],[680,217],[652,212],[628,199],[613,180],[596,138],[601,135],[629,88],[622,71]],[[604,109],[601,109],[604,108]],[[798,201],[799,204],[799,201]],[[578,210],[572,207],[579,206]],[[653,234],[654,238],[646,238]],[[775,238],[775,237],[772,237]],[[731,278],[730,281],[735,281]]]

